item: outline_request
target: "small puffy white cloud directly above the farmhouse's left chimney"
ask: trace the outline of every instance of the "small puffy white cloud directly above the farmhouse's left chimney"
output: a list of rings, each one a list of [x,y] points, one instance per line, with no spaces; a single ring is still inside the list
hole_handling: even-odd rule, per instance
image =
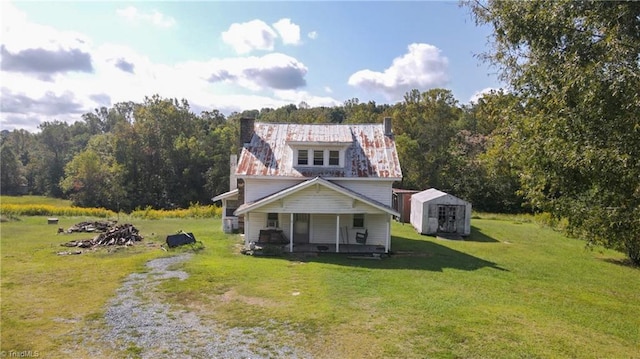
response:
[[[278,34],[262,20],[234,23],[222,33],[222,41],[231,45],[238,54],[273,50],[276,37]]]

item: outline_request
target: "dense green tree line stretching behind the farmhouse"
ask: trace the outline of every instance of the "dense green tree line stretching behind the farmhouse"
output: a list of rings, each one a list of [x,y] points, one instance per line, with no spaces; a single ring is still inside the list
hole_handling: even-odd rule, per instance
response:
[[[4,131],[1,189],[111,210],[184,208],[210,203],[228,190],[229,155],[237,152],[243,117],[344,124],[382,123],[392,117],[405,174],[397,187],[436,187],[479,210],[517,212],[525,209],[516,193],[517,176],[495,171],[499,164],[486,156],[499,121],[486,108],[500,103],[489,99],[504,97],[509,95],[496,92],[460,106],[449,90],[412,90],[395,105],[354,98],[341,106],[301,103],[227,117],[217,110],[195,114],[187,100],[154,95],[142,103],[96,109],[72,124],[44,122],[37,133]]]

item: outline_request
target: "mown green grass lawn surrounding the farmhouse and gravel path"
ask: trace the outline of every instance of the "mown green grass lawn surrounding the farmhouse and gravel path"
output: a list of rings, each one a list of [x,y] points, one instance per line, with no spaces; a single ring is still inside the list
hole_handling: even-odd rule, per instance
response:
[[[170,255],[158,244],[182,229],[205,249],[185,264],[187,280],[164,284],[167,300],[227,326],[280,332],[274,345],[318,358],[640,358],[640,270],[534,223],[474,218],[465,241],[394,223],[395,255],[376,261],[249,257],[220,220],[133,220],[143,244],[56,255],[83,237],[57,227],[84,219],[1,224],[5,353],[82,357],[62,352],[68,334],[99,322],[123,278]]]

